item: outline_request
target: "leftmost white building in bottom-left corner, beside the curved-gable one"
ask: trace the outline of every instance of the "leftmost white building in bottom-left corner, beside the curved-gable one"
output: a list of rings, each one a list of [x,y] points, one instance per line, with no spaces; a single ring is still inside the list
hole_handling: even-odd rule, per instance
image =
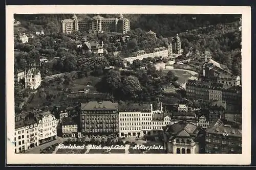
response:
[[[15,122],[15,153],[21,153],[39,145],[38,120],[31,115]]]

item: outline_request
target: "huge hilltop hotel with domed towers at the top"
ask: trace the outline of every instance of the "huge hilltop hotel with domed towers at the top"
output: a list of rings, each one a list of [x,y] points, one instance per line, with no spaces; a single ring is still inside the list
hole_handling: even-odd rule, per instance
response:
[[[87,31],[88,33],[119,32],[126,34],[130,31],[130,20],[119,14],[116,18],[104,18],[100,15],[87,20],[78,20],[74,14],[72,19],[61,21],[61,31],[70,34],[74,31]]]

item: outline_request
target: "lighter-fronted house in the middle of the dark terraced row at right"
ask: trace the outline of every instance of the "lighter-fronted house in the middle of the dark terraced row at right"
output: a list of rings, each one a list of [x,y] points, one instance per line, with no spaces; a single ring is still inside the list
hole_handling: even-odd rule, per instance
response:
[[[209,87],[209,101],[222,101],[223,84],[211,83]]]

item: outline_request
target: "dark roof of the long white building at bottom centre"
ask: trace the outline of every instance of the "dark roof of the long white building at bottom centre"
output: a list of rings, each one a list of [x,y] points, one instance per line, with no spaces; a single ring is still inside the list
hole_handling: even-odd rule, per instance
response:
[[[120,104],[118,105],[119,112],[151,112],[151,104],[150,103],[132,103],[132,104]]]

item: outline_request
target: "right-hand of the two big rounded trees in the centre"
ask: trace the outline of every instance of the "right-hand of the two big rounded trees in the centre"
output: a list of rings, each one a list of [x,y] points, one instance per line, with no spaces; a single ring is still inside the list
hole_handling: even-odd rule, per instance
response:
[[[142,90],[138,78],[135,76],[124,77],[122,83],[122,92],[124,95],[128,98],[136,99],[138,93]]]

